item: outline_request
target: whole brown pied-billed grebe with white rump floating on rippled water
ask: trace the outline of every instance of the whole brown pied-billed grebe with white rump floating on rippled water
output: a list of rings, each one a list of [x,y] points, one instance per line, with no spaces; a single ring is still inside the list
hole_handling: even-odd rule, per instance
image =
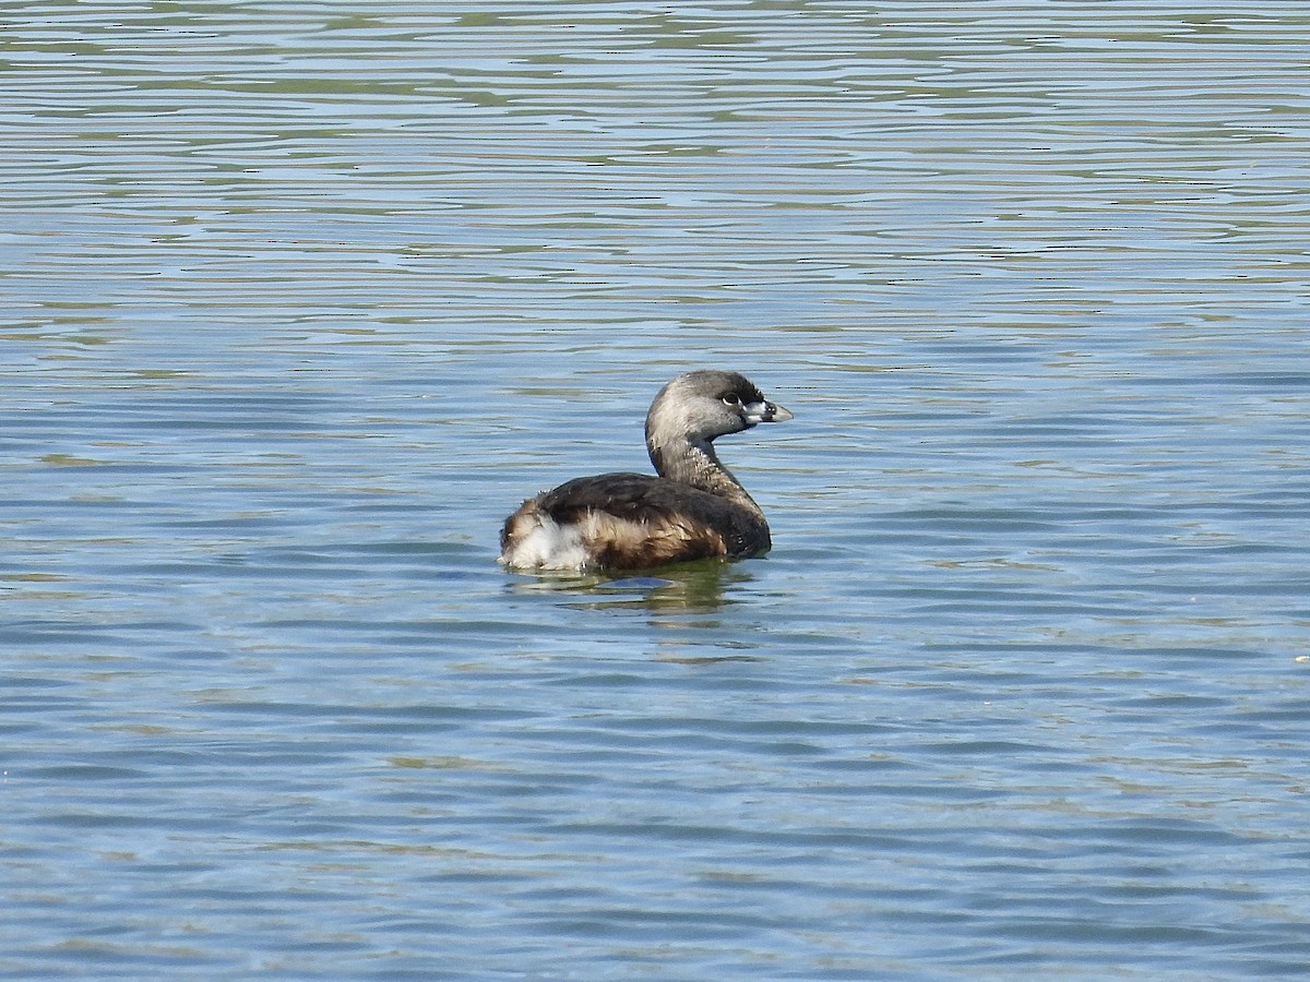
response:
[[[719,464],[714,439],[791,414],[736,372],[686,372],[655,397],[646,449],[659,477],[576,478],[523,503],[500,532],[514,570],[643,570],[766,553],[769,522]]]

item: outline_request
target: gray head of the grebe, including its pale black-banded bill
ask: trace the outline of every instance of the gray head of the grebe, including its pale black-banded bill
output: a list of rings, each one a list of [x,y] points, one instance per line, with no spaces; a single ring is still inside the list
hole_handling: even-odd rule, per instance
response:
[[[786,419],[791,419],[791,414],[765,399],[745,376],[736,372],[684,372],[655,397],[646,416],[646,441],[667,444],[683,439],[707,444],[757,423]]]

